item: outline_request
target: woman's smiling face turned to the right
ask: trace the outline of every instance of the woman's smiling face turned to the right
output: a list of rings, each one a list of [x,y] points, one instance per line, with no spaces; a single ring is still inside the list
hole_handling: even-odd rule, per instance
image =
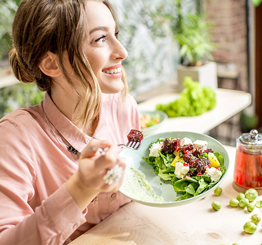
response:
[[[87,1],[89,39],[84,45],[88,61],[103,93],[124,88],[121,62],[127,50],[117,40],[116,26],[109,8],[102,2]]]

